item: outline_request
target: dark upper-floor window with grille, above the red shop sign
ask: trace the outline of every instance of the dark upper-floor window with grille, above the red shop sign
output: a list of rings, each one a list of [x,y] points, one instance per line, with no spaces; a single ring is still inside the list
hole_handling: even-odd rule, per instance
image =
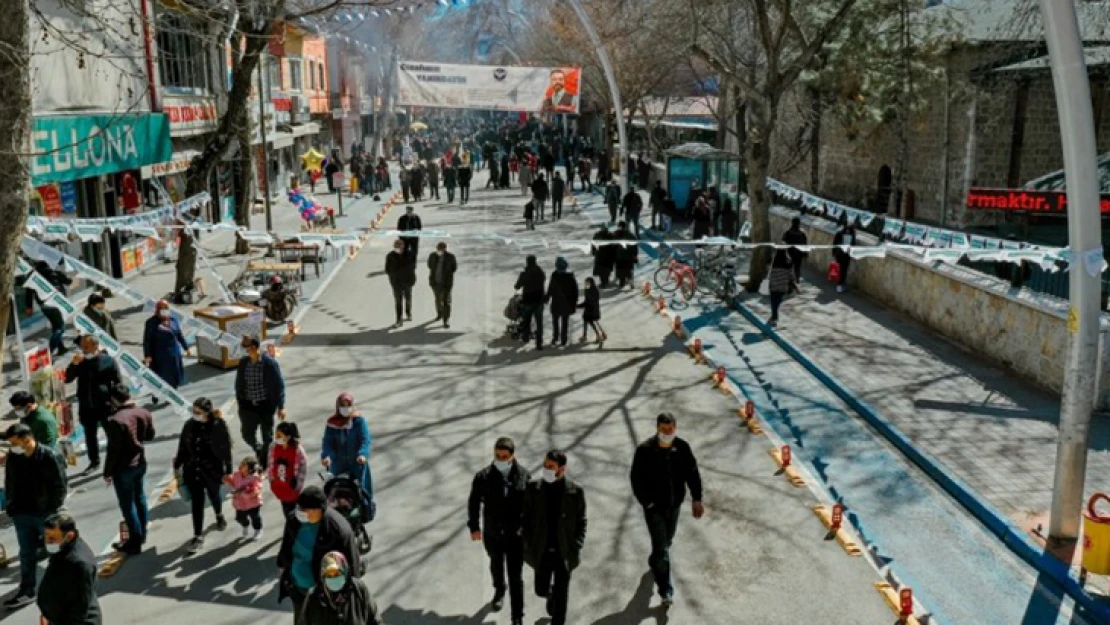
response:
[[[158,59],[162,85],[171,91],[209,92],[212,80],[209,49],[200,20],[163,11],[158,14]]]

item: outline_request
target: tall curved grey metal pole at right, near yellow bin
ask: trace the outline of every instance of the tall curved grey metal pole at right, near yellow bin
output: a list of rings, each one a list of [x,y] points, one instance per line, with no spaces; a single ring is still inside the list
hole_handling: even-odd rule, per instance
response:
[[[1099,274],[1102,266],[1099,178],[1091,90],[1074,4],[1071,0],[1040,0],[1040,6],[1060,118],[1068,187],[1068,245],[1072,253],[1068,310],[1071,344],[1060,402],[1049,538],[1072,541],[1079,536],[1087,442],[1098,390]]]

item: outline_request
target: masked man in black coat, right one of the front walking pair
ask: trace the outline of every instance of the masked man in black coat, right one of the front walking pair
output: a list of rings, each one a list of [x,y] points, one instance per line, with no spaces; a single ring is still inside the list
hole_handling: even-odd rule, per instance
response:
[[[544,457],[542,480],[524,492],[524,562],[536,572],[536,594],[547,598],[551,625],[566,625],[571,573],[586,543],[586,494],[566,476],[566,454]]]

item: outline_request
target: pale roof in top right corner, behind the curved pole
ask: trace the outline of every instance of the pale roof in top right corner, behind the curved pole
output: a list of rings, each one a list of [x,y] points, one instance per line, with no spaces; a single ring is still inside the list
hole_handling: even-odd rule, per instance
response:
[[[1071,0],[1083,41],[1110,43],[1110,1]],[[1042,42],[1045,26],[1037,0],[952,0],[928,12],[958,24],[968,43]]]

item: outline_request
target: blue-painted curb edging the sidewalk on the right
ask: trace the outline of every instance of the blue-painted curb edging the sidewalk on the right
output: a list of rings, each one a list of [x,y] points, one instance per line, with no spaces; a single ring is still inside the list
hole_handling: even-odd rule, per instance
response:
[[[658,240],[658,236],[654,232],[648,230],[644,232],[652,239]],[[647,251],[654,251],[649,245],[642,244],[642,246]],[[1092,618],[1101,625],[1110,625],[1110,606],[1098,602],[1088,594],[1080,586],[1078,579],[1071,576],[1071,568],[1068,565],[1056,556],[1045,553],[1042,547],[1035,543],[1021,527],[996,510],[989,502],[979,497],[970,486],[945,468],[944,464],[928,452],[918,448],[908,436],[892,423],[884,419],[870,404],[852,393],[851,390],[841,384],[836,377],[803,354],[794,344],[764,323],[758,315],[740,302],[738,296],[734,296],[729,304],[781,347],[783,351],[789,354],[790,357],[797,361],[798,364],[805,367],[806,371],[820,381],[821,384],[862,416],[871,427],[882,434],[898,451],[931,477],[937,485],[959,502],[960,505],[982,523],[989,532],[995,534],[1011,552],[1059,585],[1076,602],[1077,606],[1080,607],[1082,616]]]

